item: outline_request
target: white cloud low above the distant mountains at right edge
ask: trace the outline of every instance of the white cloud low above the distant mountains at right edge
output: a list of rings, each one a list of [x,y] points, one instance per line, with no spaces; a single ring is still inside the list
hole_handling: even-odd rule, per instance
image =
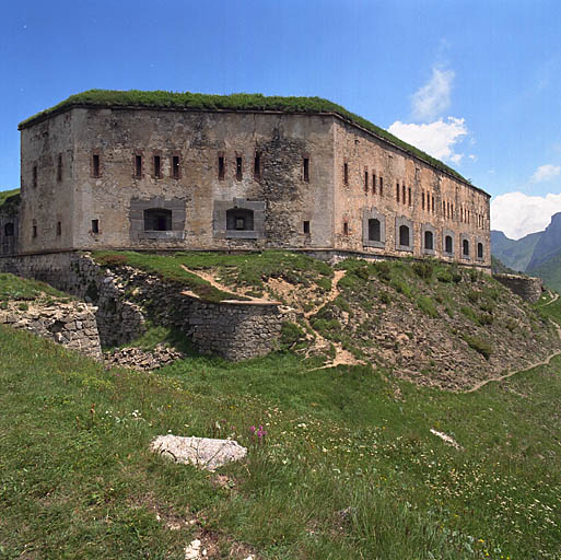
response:
[[[544,231],[551,217],[561,212],[561,195],[545,197],[524,192],[506,192],[491,201],[491,229],[500,230],[511,240]]]

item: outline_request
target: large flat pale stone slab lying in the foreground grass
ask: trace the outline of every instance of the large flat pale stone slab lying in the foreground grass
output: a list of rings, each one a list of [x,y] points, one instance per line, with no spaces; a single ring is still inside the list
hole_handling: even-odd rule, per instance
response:
[[[176,463],[195,465],[206,470],[214,470],[247,455],[247,450],[235,440],[182,438],[172,434],[159,435],[152,441],[150,447],[153,452],[167,456]]]

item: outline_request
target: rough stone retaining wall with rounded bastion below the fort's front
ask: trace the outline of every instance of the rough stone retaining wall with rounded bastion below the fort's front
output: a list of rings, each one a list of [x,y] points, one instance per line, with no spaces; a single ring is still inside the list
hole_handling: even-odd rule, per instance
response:
[[[242,360],[277,348],[282,323],[295,319],[276,303],[203,302],[180,284],[140,270],[102,268],[87,254],[0,257],[0,271],[43,280],[94,303],[103,346],[129,342],[150,318],[184,332],[203,353]]]

